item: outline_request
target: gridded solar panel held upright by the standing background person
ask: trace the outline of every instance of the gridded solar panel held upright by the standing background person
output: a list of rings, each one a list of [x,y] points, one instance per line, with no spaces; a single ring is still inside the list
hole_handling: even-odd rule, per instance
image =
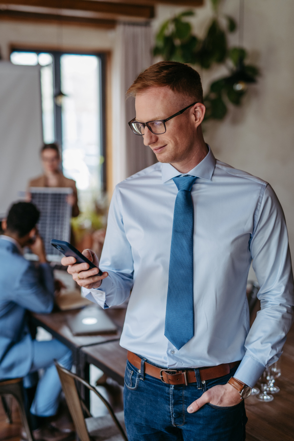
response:
[[[31,202],[40,211],[38,230],[45,245],[47,259],[60,261],[62,254],[50,241],[58,239],[69,242],[71,236],[72,206],[67,203],[67,196],[73,194],[72,188],[31,187]]]

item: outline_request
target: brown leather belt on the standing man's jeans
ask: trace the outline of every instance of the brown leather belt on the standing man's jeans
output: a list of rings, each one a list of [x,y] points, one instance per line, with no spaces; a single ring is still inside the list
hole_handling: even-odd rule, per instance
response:
[[[133,366],[135,366],[135,368],[141,368],[142,359],[138,357],[138,355],[127,351],[127,359]],[[233,363],[223,363],[222,365],[212,366],[209,368],[199,368],[200,379],[201,381],[206,381],[212,380],[213,378],[222,377],[223,375],[230,373],[230,369],[235,368],[235,366],[239,365],[240,363],[240,361],[237,361]],[[197,382],[195,370],[161,369],[145,362],[144,372],[147,373],[147,375],[151,375],[151,377],[158,378],[166,384],[185,384],[187,386],[189,383]]]

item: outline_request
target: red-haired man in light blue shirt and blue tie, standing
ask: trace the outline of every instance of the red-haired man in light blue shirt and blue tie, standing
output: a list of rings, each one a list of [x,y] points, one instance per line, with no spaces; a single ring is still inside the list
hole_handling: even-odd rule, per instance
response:
[[[159,162],[114,191],[103,275],[73,258],[62,263],[104,309],[132,290],[121,338],[129,440],[244,440],[244,398],[281,355],[292,324],[282,208],[267,182],[216,160],[205,144],[191,67],[157,63],[128,94],[136,97],[129,125]],[[249,330],[251,261],[261,311]]]

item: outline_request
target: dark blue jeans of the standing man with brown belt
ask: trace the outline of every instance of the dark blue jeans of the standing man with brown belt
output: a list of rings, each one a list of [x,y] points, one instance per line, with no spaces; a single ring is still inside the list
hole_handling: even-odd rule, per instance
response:
[[[203,392],[225,384],[236,372],[202,384],[168,385],[141,373],[127,361],[124,376],[124,418],[129,441],[243,441],[245,440],[244,401],[232,407],[205,404],[196,413],[187,407]]]

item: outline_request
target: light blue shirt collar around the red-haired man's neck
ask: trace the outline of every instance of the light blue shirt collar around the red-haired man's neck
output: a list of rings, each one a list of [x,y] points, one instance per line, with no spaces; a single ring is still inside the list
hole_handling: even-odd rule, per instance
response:
[[[167,182],[179,174],[191,174],[192,176],[211,180],[216,165],[216,158],[214,157],[213,152],[208,144],[207,147],[208,153],[205,158],[202,159],[202,161],[199,162],[199,164],[197,164],[196,167],[194,167],[194,169],[190,170],[188,173],[180,173],[178,170],[172,167],[171,164],[163,163],[161,167],[162,182]]]

